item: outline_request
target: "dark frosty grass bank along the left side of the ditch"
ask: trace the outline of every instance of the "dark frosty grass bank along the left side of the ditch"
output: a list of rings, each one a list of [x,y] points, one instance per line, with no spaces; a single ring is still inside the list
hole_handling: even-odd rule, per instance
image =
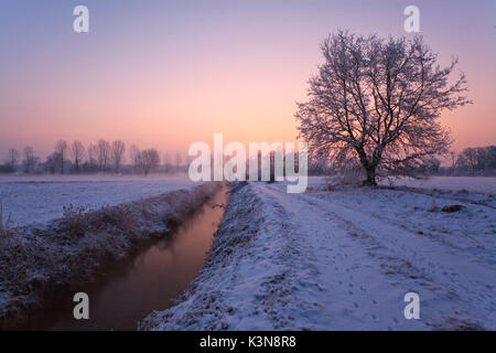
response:
[[[54,186],[61,192],[74,186],[60,184]],[[107,186],[116,192],[111,183]],[[136,186],[128,185],[132,188]],[[142,240],[163,236],[218,188],[217,183],[190,184],[187,189],[93,211],[67,206],[62,217],[45,224],[12,226],[3,221],[0,223],[0,328],[15,328],[25,319],[28,310],[40,306],[45,297],[61,288],[93,280],[97,274],[105,272],[106,266],[129,256]],[[118,189],[127,190],[122,184]],[[177,184],[170,189],[177,189]],[[100,190],[105,191],[99,196],[101,203],[116,200],[108,189]],[[159,190],[168,188],[162,183],[154,193]],[[75,192],[74,200],[83,196],[74,189],[72,192]],[[50,203],[50,199],[46,201]]]

